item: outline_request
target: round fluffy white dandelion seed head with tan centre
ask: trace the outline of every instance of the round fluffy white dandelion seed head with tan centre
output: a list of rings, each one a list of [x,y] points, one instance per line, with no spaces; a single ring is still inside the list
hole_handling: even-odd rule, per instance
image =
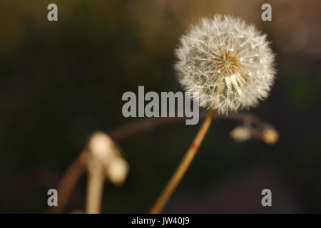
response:
[[[203,18],[180,38],[175,69],[200,107],[235,113],[258,105],[274,81],[274,53],[266,35],[241,19]]]

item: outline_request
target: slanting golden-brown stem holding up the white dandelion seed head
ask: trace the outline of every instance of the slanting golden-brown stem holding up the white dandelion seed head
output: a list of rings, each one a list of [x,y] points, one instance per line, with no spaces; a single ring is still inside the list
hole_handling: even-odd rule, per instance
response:
[[[206,115],[203,124],[200,126],[200,130],[198,130],[198,133],[195,136],[192,144],[188,148],[188,151],[185,153],[183,160],[180,162],[180,165],[178,165],[178,168],[175,170],[173,176],[170,178],[170,181],[165,186],[165,189],[161,193],[160,197],[158,197],[156,203],[153,205],[150,211],[151,214],[161,213],[163,207],[165,207],[165,204],[168,202],[168,199],[173,194],[180,180],[182,180],[186,170],[188,170],[190,163],[193,161],[193,158],[198,151],[198,147],[200,147],[200,144],[202,143],[206,133],[208,132],[208,128],[210,127],[210,123],[213,120],[214,113],[215,110],[212,109],[208,112],[208,115]]]

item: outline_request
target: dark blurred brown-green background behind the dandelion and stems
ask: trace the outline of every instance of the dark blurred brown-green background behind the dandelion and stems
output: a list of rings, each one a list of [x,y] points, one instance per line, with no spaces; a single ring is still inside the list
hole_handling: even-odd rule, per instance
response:
[[[47,6],[58,5],[58,21]],[[272,21],[261,6],[272,6]],[[277,78],[250,113],[280,133],[275,145],[230,138],[215,121],[164,212],[321,212],[321,2],[214,0],[0,0],[0,212],[47,212],[47,190],[95,130],[123,118],[121,95],[182,90],[173,49],[190,24],[240,16],[272,41]],[[175,123],[118,142],[130,165],[121,187],[106,182],[102,212],[148,212],[199,125]],[[272,207],[261,191],[272,190]],[[83,210],[86,175],[66,212]]]

